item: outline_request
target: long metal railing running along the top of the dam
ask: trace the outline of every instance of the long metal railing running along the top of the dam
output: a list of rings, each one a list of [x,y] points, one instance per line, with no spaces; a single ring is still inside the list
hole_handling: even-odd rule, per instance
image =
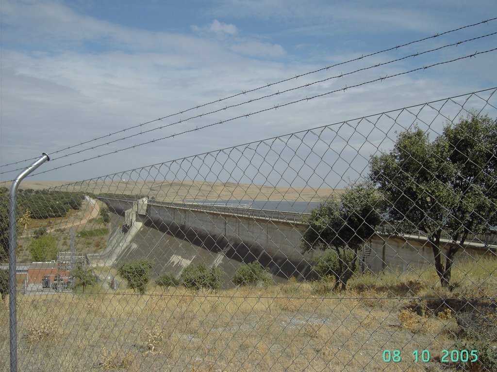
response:
[[[137,199],[128,199],[120,197],[103,196],[99,197],[102,199],[115,200],[124,203],[132,204]],[[278,222],[290,222],[295,225],[305,225],[304,219],[309,216],[310,213],[305,212],[289,212],[289,211],[277,211],[268,209],[251,209],[247,207],[232,206],[232,205],[216,205],[216,204],[204,204],[204,203],[193,203],[193,202],[174,202],[174,201],[158,201],[158,200],[148,200],[148,204],[169,207],[180,210],[191,210],[191,211],[202,211],[206,213],[215,213],[220,215],[229,216],[240,216],[245,218],[253,218],[265,221],[278,221]],[[427,240],[428,236],[426,233],[418,229],[409,229],[408,227],[403,227],[402,225],[394,226],[389,221],[383,221],[376,228],[376,233],[381,236],[397,236],[404,237],[406,239],[417,239],[417,240]],[[449,234],[443,234],[440,236],[441,240],[449,242],[452,237]],[[465,245],[472,245],[474,247],[487,247],[496,249],[497,248],[497,229],[489,229],[486,232],[480,234],[469,235],[465,241]]]

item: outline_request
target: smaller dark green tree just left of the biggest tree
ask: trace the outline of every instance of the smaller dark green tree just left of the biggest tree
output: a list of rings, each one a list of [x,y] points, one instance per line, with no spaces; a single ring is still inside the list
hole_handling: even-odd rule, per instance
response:
[[[369,183],[348,187],[339,200],[329,199],[304,219],[307,227],[300,246],[304,251],[333,249],[336,268],[330,270],[334,289],[345,289],[357,267],[357,252],[371,240],[381,221],[378,212],[382,198]],[[352,252],[352,253],[350,253]]]

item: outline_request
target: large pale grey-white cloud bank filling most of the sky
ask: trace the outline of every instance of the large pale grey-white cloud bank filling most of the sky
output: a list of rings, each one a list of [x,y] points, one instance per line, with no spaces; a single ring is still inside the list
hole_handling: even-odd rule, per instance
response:
[[[299,2],[293,2],[294,11],[298,4]],[[259,11],[266,11],[264,9],[264,6],[259,6]],[[299,9],[306,11],[305,6]],[[247,30],[251,33],[245,34],[242,28],[220,22],[214,16],[210,18],[214,21],[204,26],[192,26],[198,33],[197,36],[192,36],[186,33],[150,31],[146,25],[126,27],[86,16],[64,6],[62,2],[44,1],[28,6],[20,1],[14,3],[2,0],[1,11],[2,164],[34,157],[42,151],[50,153],[124,127],[321,68],[324,63],[330,64],[330,61],[343,62],[363,53],[354,43],[347,50],[350,53],[348,55],[331,45],[322,51],[326,58],[315,57],[317,63],[311,65],[302,62],[303,59],[299,59],[299,56],[289,56],[286,50],[290,49],[286,48],[286,44],[271,39],[272,35],[265,34],[256,27]],[[308,14],[319,11],[319,7],[310,7]],[[360,16],[357,15],[356,18]],[[191,24],[191,21],[187,22],[187,25]],[[439,30],[440,27],[435,26]],[[305,32],[304,28],[302,32]],[[21,47],[17,48],[16,42]],[[316,47],[313,38],[306,42],[311,47]],[[85,46],[86,43],[97,44],[99,48],[89,49]],[[24,45],[29,47],[24,48]],[[461,48],[463,46],[458,47],[458,53]],[[116,142],[110,148],[99,147],[83,152],[80,159],[408,69],[405,64],[384,66],[381,71],[368,70],[257,100],[264,95],[389,59],[392,58],[379,55],[375,59],[365,59],[353,65],[347,64],[299,77],[284,84],[265,87],[253,94],[244,94],[184,115],[147,124],[135,131],[121,133],[120,136],[173,123],[180,118],[184,120],[201,113],[221,110],[187,123]],[[460,65],[447,65],[450,68],[443,66],[443,71],[446,71],[443,78],[436,76],[436,73],[428,75],[428,71],[423,71],[415,76],[406,75],[271,109],[263,114],[213,125],[174,139],[99,158],[88,164],[63,168],[42,176],[41,179],[68,180],[109,174],[462,94],[480,89],[482,85],[486,88],[487,83],[475,86],[474,81],[478,80],[473,77],[478,73],[488,81],[489,77],[495,76],[494,60],[495,57],[492,58],[489,54],[463,61]],[[475,64],[475,61],[481,64]],[[421,63],[417,59],[416,62]],[[477,69],[475,66],[481,68]],[[435,71],[439,73],[442,67]],[[457,71],[464,71],[468,81],[461,83],[460,78],[458,81],[451,78],[457,75]],[[250,104],[223,111],[228,105],[251,99],[254,101]],[[54,160],[46,168],[74,160],[78,160],[76,156]]]

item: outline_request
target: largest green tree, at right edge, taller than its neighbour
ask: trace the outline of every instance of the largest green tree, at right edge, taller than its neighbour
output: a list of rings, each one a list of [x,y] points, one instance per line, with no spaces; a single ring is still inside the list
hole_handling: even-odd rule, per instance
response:
[[[390,153],[371,159],[370,179],[387,200],[386,215],[426,233],[443,287],[468,235],[497,224],[496,153],[496,121],[472,114],[446,125],[434,141],[418,127],[402,132]],[[443,232],[450,236],[445,254]]]

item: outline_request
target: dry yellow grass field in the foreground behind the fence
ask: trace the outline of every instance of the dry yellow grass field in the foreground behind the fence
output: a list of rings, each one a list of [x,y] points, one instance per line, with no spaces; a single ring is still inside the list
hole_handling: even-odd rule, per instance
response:
[[[407,355],[454,345],[451,312],[422,316],[395,297],[373,304],[373,296],[384,294],[350,290],[318,297],[312,285],[296,282],[218,294],[170,288],[144,296],[20,296],[19,366],[70,372],[421,371],[409,358],[386,366],[383,350],[403,348]],[[8,347],[5,329],[2,350]],[[6,363],[0,357],[0,369]]]

